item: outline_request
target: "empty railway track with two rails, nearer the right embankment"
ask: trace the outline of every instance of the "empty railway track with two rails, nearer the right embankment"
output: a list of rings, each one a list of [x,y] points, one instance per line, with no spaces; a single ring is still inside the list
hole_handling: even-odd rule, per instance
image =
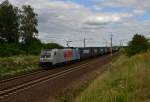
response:
[[[84,63],[84,64],[81,64],[79,66],[76,66],[76,67],[72,67],[72,68],[69,68],[67,70],[63,70],[61,72],[58,72],[58,73],[54,73],[54,74],[51,74],[51,75],[48,75],[48,76],[45,76],[45,77],[42,77],[40,79],[35,79],[35,80],[32,80],[32,81],[29,81],[29,82],[26,82],[24,84],[20,84],[20,85],[17,85],[15,87],[12,87],[12,88],[8,88],[8,89],[5,89],[5,90],[2,90],[0,91],[0,99],[3,99],[11,94],[15,94],[17,92],[20,92],[20,91],[23,91],[25,89],[28,89],[30,87],[33,87],[35,85],[38,85],[40,83],[43,83],[43,82],[47,82],[49,80],[52,80],[52,79],[55,79],[57,77],[60,77],[60,76],[63,76],[63,75],[66,75],[68,73],[71,73],[71,72],[74,72],[74,71],[77,71],[81,68],[84,68],[84,67],[87,67],[89,66],[90,64],[94,63],[95,61],[92,61],[92,62],[87,62],[87,63]],[[96,63],[96,62],[95,62]]]

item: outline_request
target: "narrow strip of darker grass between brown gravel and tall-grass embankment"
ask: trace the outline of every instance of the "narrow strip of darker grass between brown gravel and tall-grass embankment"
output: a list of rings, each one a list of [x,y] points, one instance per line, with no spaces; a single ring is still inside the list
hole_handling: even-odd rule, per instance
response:
[[[116,60],[119,55],[119,53],[115,55],[115,57],[113,57],[113,60]],[[73,102],[75,98],[80,93],[82,93],[90,85],[91,82],[93,82],[94,79],[96,79],[100,74],[107,70],[108,65],[104,65],[102,68],[84,74],[80,79],[74,81],[60,93],[55,95],[54,102]]]

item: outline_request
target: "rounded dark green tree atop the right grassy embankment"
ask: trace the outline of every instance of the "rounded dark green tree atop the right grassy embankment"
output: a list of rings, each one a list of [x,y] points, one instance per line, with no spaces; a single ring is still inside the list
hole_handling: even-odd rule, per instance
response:
[[[145,52],[149,49],[149,41],[143,35],[135,34],[132,41],[128,43],[126,49],[128,56],[133,56],[137,53]]]

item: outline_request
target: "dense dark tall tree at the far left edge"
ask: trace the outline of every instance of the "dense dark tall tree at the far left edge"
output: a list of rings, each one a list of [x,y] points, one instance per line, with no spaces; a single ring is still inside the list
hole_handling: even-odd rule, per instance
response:
[[[0,42],[18,43],[18,8],[5,0],[0,4]]]

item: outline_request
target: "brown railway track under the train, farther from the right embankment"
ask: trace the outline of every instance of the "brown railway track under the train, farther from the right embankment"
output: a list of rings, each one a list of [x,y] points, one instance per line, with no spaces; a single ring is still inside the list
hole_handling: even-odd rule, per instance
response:
[[[39,78],[47,76],[49,74],[54,74],[54,73],[60,72],[62,70],[66,70],[66,69],[69,69],[72,67],[79,66],[81,64],[87,63],[87,62],[92,61],[92,60],[95,60],[95,59],[84,60],[84,61],[81,61],[78,63],[69,64],[69,65],[65,65],[65,66],[57,67],[57,68],[52,68],[51,70],[41,70],[38,72],[25,74],[25,75],[21,75],[21,76],[17,76],[17,77],[12,77],[12,78],[5,79],[5,80],[1,80],[0,81],[0,91],[8,89],[8,88],[13,87],[13,86],[17,86],[19,84],[26,83],[28,81],[39,79]]]

